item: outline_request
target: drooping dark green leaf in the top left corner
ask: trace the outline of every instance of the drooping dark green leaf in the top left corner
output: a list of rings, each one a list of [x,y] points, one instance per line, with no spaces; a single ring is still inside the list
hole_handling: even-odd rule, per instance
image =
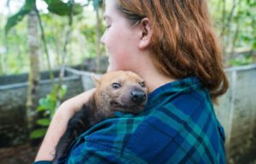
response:
[[[33,8],[35,8],[35,0],[26,0],[24,6],[20,8],[20,11],[10,16],[7,20],[5,25],[5,34],[8,34],[9,30],[17,25],[26,14],[29,14],[32,11]]]

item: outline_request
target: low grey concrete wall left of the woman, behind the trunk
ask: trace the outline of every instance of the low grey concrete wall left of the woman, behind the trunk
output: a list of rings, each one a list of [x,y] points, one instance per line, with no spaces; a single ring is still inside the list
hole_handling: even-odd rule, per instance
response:
[[[0,147],[23,144],[27,140],[26,79],[26,74],[0,78]],[[58,79],[55,79],[55,82],[57,81]],[[80,76],[65,76],[63,81],[67,86],[67,94],[64,99],[84,91]],[[40,81],[38,97],[44,97],[50,90],[49,80]]]

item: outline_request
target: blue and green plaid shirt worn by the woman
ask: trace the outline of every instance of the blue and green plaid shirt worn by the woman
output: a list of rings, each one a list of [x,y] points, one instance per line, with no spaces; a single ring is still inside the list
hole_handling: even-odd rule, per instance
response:
[[[195,77],[168,83],[134,116],[116,113],[90,128],[60,163],[225,163],[224,130]]]

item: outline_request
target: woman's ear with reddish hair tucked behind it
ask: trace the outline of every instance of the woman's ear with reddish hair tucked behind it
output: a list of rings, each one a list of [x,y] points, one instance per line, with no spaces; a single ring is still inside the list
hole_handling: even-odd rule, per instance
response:
[[[144,49],[147,48],[150,44],[151,37],[152,37],[152,26],[150,25],[150,22],[148,18],[143,18],[141,20],[139,27],[141,29],[141,38],[139,42],[139,48]]]

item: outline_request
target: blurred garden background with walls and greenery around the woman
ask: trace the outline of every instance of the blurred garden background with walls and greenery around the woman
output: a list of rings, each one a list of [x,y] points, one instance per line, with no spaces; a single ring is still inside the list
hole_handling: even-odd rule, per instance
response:
[[[216,114],[227,161],[256,163],[256,1],[208,0],[230,81]],[[55,109],[108,56],[102,0],[1,0],[0,164],[32,163]]]

